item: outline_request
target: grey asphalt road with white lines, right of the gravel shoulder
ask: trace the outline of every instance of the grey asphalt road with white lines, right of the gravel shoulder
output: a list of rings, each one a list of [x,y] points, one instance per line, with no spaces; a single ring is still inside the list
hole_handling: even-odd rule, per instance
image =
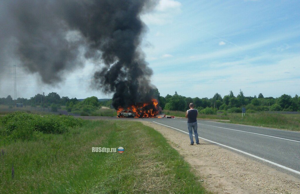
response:
[[[188,132],[186,119],[151,118],[147,120],[172,127],[173,130],[179,129],[183,133]],[[197,123],[200,138],[213,141],[226,149],[300,178],[300,132],[205,120],[198,120]]]

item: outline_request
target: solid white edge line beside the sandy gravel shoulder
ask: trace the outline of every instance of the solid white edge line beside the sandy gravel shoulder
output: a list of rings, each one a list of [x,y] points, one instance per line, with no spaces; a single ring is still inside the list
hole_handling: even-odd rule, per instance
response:
[[[163,126],[166,126],[166,127],[170,127],[170,128],[172,128],[172,129],[176,129],[176,128],[174,128],[174,127],[167,126],[167,125],[164,125],[164,124],[155,122],[155,121],[153,121],[153,122],[154,122],[154,123],[157,123],[157,124],[160,124],[160,125],[163,125]],[[176,129],[176,130],[189,134],[188,132],[182,131],[182,130],[180,130],[180,129]],[[193,136],[195,136],[195,135],[193,135]],[[270,160],[261,158],[261,157],[259,157],[259,156],[255,156],[255,155],[253,155],[253,154],[244,152],[244,151],[242,151],[242,150],[235,149],[235,148],[233,148],[233,147],[229,147],[229,146],[220,144],[220,143],[215,142],[215,141],[211,141],[211,140],[208,140],[208,139],[205,139],[205,138],[201,138],[201,137],[199,137],[199,138],[200,138],[200,139],[203,139],[203,140],[205,140],[205,141],[209,141],[209,142],[211,142],[211,143],[214,143],[214,144],[217,144],[217,145],[226,147],[226,148],[228,148],[228,149],[235,150],[235,151],[237,151],[237,152],[239,152],[239,153],[243,153],[243,154],[245,154],[245,155],[247,155],[247,156],[251,156],[251,157],[256,158],[256,159],[259,159],[259,160],[261,160],[261,161],[263,161],[263,162],[268,162],[268,163],[270,163],[270,164],[272,164],[272,165],[275,165],[275,166],[277,166],[277,167],[279,167],[279,168],[283,168],[284,170],[287,170],[287,171],[290,171],[290,172],[293,172],[293,173],[295,173],[295,174],[300,175],[300,172],[299,172],[299,171],[296,171],[296,170],[294,170],[294,169],[292,169],[292,168],[289,168],[289,167],[286,167],[286,166],[277,164],[277,163],[272,162],[272,161],[270,161]]]

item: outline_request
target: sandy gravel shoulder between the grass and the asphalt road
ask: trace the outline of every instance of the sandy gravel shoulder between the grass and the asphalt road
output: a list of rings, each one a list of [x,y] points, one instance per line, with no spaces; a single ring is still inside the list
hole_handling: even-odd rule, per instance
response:
[[[289,174],[201,139],[200,145],[190,146],[188,135],[141,122],[164,135],[213,193],[300,193],[300,180]]]

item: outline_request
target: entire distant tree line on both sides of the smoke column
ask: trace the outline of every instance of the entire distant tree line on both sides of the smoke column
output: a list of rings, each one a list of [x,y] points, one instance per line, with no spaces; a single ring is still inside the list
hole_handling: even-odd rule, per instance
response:
[[[262,93],[258,96],[244,96],[243,91],[240,90],[237,96],[229,91],[228,95],[221,96],[216,93],[212,98],[191,98],[179,95],[175,92],[174,95],[161,96],[158,89],[155,91],[160,106],[163,110],[171,111],[186,111],[191,102],[194,103],[195,108],[202,113],[205,111],[226,111],[226,112],[241,112],[241,108],[245,107],[247,112],[256,111],[299,111],[300,110],[300,97],[294,97],[283,94],[278,98],[264,97]],[[82,109],[95,109],[101,105],[109,106],[111,99],[103,102],[98,102],[97,97],[92,96],[80,102],[76,98],[70,99],[67,96],[60,97],[56,92],[50,92],[48,95],[37,94],[30,99],[18,98],[13,100],[10,95],[6,98],[0,98],[1,105],[14,106],[20,103],[26,106],[36,107],[41,106],[44,108],[51,107],[54,110],[59,106],[66,106],[68,111],[79,111]]]

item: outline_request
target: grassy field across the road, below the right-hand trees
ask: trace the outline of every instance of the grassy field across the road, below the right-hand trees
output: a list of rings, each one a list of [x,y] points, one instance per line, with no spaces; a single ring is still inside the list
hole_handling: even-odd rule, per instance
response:
[[[173,115],[176,117],[185,117],[185,112],[182,111],[164,111],[164,114]],[[223,121],[228,123],[237,123],[244,125],[270,127],[283,130],[300,131],[300,113],[286,114],[281,113],[246,113],[242,118],[241,113],[218,113],[216,115],[199,114],[199,119],[214,119],[214,120],[229,120]]]

